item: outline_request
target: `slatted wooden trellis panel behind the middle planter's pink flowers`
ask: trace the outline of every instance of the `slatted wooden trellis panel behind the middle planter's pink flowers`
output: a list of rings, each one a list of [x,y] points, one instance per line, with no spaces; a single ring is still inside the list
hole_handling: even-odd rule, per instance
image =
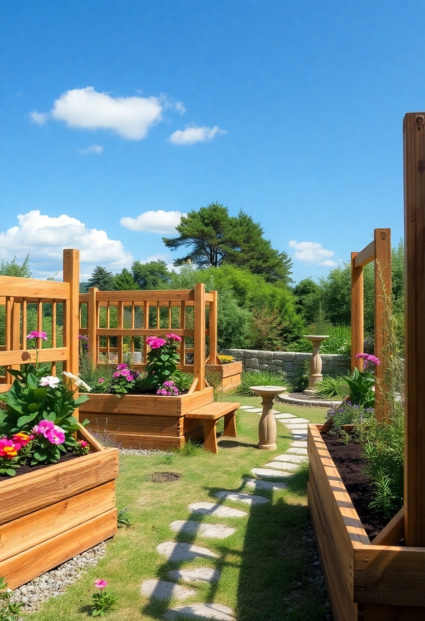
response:
[[[99,291],[91,287],[80,294],[79,325],[96,365],[129,362],[144,371],[147,337],[168,333],[181,337],[179,368],[198,379],[196,391],[205,386],[206,360],[218,362],[217,292],[205,292],[202,283],[194,289],[165,291]]]

